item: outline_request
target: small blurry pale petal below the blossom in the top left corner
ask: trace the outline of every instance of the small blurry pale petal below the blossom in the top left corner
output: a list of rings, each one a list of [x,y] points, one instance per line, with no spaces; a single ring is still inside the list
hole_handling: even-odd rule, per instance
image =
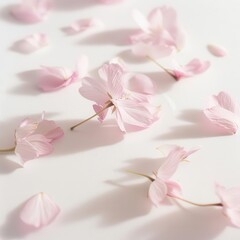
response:
[[[44,33],[31,34],[14,44],[17,51],[31,53],[48,45],[48,37]]]

